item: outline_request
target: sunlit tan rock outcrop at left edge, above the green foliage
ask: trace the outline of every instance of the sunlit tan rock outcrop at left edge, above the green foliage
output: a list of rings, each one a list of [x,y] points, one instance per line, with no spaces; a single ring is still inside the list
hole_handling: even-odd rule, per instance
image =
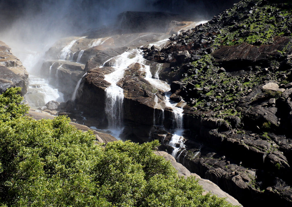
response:
[[[0,41],[0,93],[10,87],[22,87],[21,95],[26,90],[28,73],[22,63],[10,52],[11,48]]]

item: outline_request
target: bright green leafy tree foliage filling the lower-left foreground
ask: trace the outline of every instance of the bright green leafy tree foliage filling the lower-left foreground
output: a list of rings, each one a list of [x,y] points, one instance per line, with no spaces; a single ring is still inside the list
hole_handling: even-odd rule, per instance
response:
[[[69,118],[34,120],[0,95],[0,206],[231,206],[152,151],[158,141],[94,144]]]

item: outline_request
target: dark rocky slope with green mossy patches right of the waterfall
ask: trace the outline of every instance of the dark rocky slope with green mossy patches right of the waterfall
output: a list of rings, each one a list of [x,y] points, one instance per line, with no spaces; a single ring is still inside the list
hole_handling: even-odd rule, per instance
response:
[[[244,206],[292,203],[291,29],[290,2],[241,1],[161,50],[144,50],[170,64],[161,78],[189,106],[178,160]],[[163,130],[156,137],[172,150]]]

